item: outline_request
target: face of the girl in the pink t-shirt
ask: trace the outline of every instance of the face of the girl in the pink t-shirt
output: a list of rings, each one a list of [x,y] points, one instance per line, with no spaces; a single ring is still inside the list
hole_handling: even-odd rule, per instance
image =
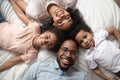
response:
[[[37,44],[41,47],[41,48],[53,48],[54,45],[56,44],[57,41],[57,37],[55,36],[54,33],[46,31],[44,33],[42,33],[38,40],[37,40]]]

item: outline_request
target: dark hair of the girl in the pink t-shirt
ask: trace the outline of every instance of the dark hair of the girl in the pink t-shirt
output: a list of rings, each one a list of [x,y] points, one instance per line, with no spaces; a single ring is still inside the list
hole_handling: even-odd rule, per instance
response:
[[[65,34],[64,34],[61,30],[59,30],[59,29],[57,29],[57,28],[55,28],[55,27],[54,27],[54,28],[50,28],[50,29],[48,29],[47,31],[49,31],[49,32],[51,32],[51,33],[54,33],[55,36],[56,36],[56,38],[57,38],[57,41],[56,41],[54,47],[51,48],[51,49],[49,49],[49,50],[51,50],[51,51],[56,52],[56,51],[58,51],[58,49],[60,48],[62,42],[66,39],[66,38],[65,38]]]

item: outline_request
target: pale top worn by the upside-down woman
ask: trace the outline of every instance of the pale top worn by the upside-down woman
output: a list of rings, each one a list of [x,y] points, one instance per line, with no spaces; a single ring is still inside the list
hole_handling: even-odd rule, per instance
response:
[[[73,7],[77,0],[30,0],[26,8],[26,14],[39,22],[43,22],[49,17],[47,7],[49,4],[58,4],[63,9]]]

